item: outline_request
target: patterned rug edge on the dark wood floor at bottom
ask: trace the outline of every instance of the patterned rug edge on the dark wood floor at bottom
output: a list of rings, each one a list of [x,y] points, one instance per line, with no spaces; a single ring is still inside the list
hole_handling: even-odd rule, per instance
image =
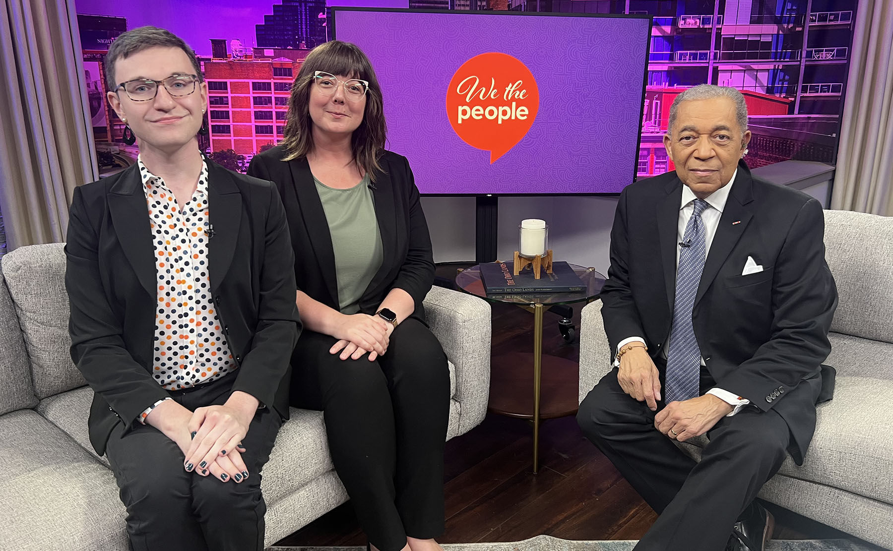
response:
[[[501,543],[444,544],[444,551],[630,551],[633,540],[568,541],[537,536],[523,541]],[[268,551],[363,551],[365,547],[270,547]],[[849,539],[779,539],[769,542],[766,551],[881,551]]]

